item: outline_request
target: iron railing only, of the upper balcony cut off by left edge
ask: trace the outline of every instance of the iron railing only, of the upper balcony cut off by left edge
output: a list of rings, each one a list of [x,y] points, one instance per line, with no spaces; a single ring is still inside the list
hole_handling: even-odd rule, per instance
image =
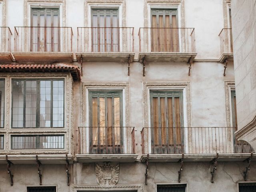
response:
[[[0,52],[11,51],[12,32],[9,27],[0,27]]]

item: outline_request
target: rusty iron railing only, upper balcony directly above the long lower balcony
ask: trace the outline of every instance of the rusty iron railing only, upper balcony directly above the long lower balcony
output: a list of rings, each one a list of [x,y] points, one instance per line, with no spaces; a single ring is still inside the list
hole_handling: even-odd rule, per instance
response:
[[[196,52],[194,28],[140,28],[140,52]]]

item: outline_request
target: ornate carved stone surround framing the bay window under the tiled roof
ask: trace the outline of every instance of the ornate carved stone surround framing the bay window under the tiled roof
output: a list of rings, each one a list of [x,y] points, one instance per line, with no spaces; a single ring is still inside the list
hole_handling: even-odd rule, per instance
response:
[[[69,154],[74,151],[74,146],[70,142],[71,135],[73,132],[72,128],[72,89],[73,81],[70,73],[4,73],[0,74],[1,78],[5,78],[5,114],[4,114],[4,129],[0,131],[5,134],[5,150],[4,154]],[[54,128],[54,129],[12,129],[10,118],[11,114],[11,81],[12,78],[64,78],[65,79],[65,106],[64,106],[64,122],[65,128]],[[64,150],[10,150],[10,134],[64,134],[65,138],[65,149]]]

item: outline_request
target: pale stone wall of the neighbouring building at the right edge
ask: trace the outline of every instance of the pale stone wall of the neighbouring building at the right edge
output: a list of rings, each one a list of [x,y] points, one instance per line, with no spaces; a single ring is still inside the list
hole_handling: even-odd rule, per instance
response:
[[[256,0],[232,0],[237,135],[256,147]]]

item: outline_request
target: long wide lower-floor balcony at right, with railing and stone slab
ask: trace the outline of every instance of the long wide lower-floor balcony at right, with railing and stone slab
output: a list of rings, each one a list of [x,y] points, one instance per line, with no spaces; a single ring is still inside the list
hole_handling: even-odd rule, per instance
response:
[[[151,162],[210,161],[218,154],[218,161],[241,161],[254,152],[250,144],[234,138],[232,127],[143,128],[142,157]],[[168,135],[172,134],[170,138]],[[256,160],[256,156],[253,156]]]

